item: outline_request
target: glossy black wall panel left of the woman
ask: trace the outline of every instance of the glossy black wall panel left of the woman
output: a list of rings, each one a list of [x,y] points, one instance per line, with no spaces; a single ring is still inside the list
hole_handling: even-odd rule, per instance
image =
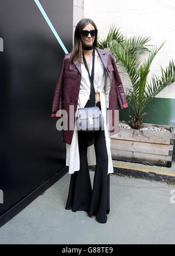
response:
[[[71,51],[73,0],[40,3]],[[51,117],[65,53],[33,0],[0,0],[0,37],[1,217],[65,167],[66,151]]]

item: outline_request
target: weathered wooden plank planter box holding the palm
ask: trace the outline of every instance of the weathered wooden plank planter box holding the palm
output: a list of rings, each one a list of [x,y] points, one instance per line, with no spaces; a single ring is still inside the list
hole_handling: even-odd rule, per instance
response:
[[[125,121],[120,123],[128,124]],[[164,128],[170,132],[120,129],[118,135],[111,136],[112,159],[171,167],[175,127],[161,124],[142,124],[142,127],[152,126]]]

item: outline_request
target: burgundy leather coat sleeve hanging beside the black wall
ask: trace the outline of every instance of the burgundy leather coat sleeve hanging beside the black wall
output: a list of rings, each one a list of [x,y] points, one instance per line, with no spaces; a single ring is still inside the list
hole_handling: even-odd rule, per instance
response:
[[[55,86],[51,117],[55,117],[55,116],[62,117],[62,114],[57,113],[57,111],[62,109],[62,77],[64,72],[64,61],[65,61],[65,56],[62,61],[60,72],[58,74],[57,84]]]

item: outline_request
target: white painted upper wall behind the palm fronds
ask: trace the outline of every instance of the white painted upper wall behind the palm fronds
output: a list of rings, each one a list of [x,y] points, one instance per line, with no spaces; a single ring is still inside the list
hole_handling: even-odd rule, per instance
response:
[[[83,18],[92,19],[98,28],[99,38],[107,35],[115,24],[127,37],[150,36],[149,44],[166,44],[157,53],[150,72],[160,75],[160,65],[165,68],[169,60],[175,63],[175,1],[174,0],[84,0]],[[122,77],[121,77],[122,78]],[[124,87],[127,87],[127,82]],[[157,97],[175,99],[175,83],[165,88]]]

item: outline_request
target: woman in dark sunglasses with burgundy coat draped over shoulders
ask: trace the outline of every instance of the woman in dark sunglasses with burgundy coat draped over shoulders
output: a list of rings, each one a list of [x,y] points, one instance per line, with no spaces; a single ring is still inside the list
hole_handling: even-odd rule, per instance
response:
[[[68,133],[64,136],[67,143],[66,165],[71,174],[65,209],[73,212],[85,210],[90,217],[95,215],[98,222],[106,223],[110,212],[109,174],[114,172],[107,109],[117,110],[118,104],[121,109],[128,105],[111,53],[97,48],[95,23],[82,19],[76,25],[72,52],[65,54],[62,62],[52,116],[56,116],[61,107],[68,109],[72,104],[76,119],[78,108],[95,106],[95,103],[103,115],[104,130],[86,133],[74,129],[70,138]],[[111,118],[114,121],[114,117]],[[93,189],[88,165],[96,165]]]

